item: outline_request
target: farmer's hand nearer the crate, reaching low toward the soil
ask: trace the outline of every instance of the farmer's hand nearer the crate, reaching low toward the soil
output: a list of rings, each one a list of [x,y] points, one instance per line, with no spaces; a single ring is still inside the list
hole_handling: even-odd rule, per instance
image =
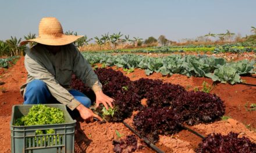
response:
[[[102,121],[101,117],[94,114],[93,111],[91,111],[89,108],[85,107],[83,104],[78,105],[76,107],[76,109],[79,111],[81,118],[83,118],[86,121],[93,122],[93,118],[97,118],[99,121]]]

